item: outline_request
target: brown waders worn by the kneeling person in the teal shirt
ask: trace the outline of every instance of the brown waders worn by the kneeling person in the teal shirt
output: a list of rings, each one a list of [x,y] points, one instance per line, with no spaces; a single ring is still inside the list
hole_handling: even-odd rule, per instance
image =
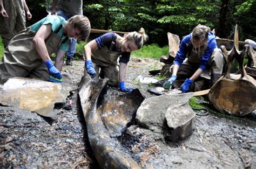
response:
[[[49,55],[56,52],[61,44],[62,39],[57,35],[61,28],[62,25],[45,40]],[[5,48],[3,62],[0,64],[0,83],[12,77],[49,79],[48,68],[32,41],[35,34],[36,32],[27,28],[12,38]]]

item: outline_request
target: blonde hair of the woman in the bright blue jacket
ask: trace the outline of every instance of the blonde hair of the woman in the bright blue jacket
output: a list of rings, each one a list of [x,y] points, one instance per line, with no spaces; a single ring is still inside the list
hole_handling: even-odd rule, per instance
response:
[[[193,45],[193,52],[198,53],[200,55],[203,55],[205,53],[205,50],[207,48],[207,40],[208,40],[208,33],[211,31],[210,27],[205,25],[197,25],[194,27],[192,32],[192,38],[191,43]],[[202,42],[203,45],[195,48],[194,43]]]

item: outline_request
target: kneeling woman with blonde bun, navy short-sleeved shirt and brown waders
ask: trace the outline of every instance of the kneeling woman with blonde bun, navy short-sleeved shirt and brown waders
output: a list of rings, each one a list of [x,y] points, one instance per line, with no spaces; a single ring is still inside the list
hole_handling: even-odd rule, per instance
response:
[[[84,47],[84,74],[89,74],[94,79],[98,79],[100,75],[109,79],[109,85],[118,86],[122,91],[131,91],[132,88],[125,86],[127,63],[131,51],[141,48],[146,39],[145,31],[141,28],[139,33],[130,32],[124,37],[110,32],[90,41]]]

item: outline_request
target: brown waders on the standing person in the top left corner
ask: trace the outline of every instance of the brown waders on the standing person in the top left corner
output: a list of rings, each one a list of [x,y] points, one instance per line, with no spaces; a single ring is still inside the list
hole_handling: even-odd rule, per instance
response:
[[[4,47],[19,32],[26,29],[26,15],[23,0],[3,0],[4,9],[9,17],[0,17],[0,34]]]

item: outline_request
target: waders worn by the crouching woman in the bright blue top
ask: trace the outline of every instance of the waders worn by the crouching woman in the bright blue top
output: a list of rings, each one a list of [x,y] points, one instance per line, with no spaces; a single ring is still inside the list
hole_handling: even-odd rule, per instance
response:
[[[200,66],[201,55],[194,53],[193,51],[187,53],[187,58],[180,66],[177,76],[180,79],[191,78],[191,76],[197,71]],[[219,48],[215,48],[212,52],[211,58],[208,62],[206,72],[211,71],[211,85],[213,85],[222,75],[223,66],[225,60],[223,53]],[[173,66],[170,67],[172,72]]]

